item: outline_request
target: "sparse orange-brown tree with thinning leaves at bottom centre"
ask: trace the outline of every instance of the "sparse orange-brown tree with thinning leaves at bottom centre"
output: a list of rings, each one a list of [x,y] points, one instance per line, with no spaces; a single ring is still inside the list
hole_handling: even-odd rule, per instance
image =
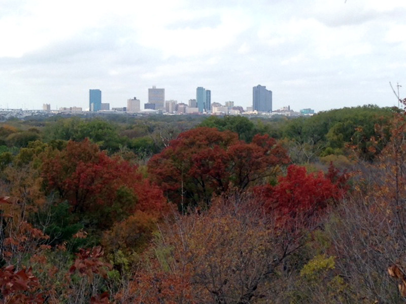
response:
[[[303,244],[285,238],[276,222],[255,208],[256,199],[232,192],[209,210],[167,223],[133,280],[120,291],[124,303],[256,303]]]

